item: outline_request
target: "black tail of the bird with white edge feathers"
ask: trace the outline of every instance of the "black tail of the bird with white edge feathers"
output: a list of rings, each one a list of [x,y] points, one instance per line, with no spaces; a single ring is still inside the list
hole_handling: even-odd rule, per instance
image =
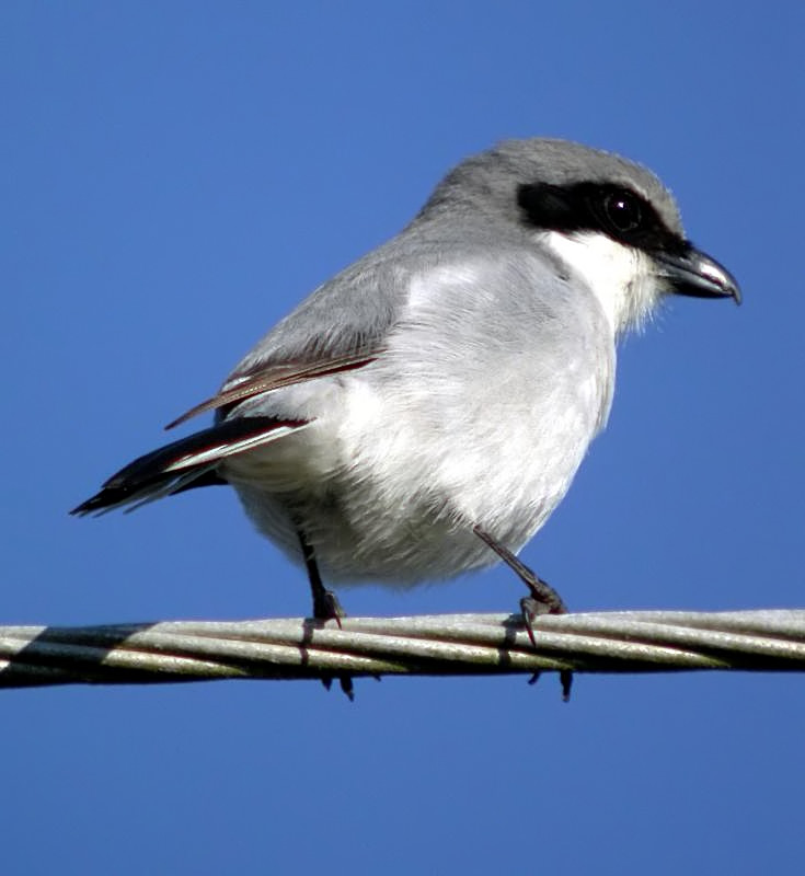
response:
[[[134,510],[193,486],[226,483],[216,469],[228,457],[276,441],[307,425],[308,420],[274,417],[223,420],[129,462],[70,514],[100,515],[125,506]]]

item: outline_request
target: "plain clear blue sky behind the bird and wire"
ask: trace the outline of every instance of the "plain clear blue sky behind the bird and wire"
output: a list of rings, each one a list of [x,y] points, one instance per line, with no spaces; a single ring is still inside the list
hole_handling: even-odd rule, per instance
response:
[[[620,151],[745,304],[675,301],[524,558],[572,608],[801,607],[802,33],[789,3],[0,7],[0,623],[298,616],[227,491],[67,510],[510,136]],[[205,495],[206,494],[206,495]],[[505,611],[504,568],[353,614]],[[8,691],[3,871],[796,872],[796,676]],[[796,863],[795,863],[796,862]]]

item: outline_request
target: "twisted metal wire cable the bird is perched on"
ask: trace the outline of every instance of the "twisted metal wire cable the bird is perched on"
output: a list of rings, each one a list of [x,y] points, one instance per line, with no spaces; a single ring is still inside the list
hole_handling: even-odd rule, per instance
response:
[[[0,687],[333,676],[805,670],[805,610],[0,626]]]

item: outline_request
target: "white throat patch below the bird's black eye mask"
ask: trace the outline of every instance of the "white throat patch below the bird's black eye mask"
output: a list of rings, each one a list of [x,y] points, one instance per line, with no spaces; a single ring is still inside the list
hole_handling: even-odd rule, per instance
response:
[[[545,231],[540,240],[593,291],[614,334],[637,327],[655,309],[662,289],[645,253],[595,231]]]

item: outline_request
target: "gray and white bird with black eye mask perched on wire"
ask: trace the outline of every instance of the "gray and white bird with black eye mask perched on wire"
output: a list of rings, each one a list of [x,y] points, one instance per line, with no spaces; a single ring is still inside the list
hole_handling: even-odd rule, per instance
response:
[[[214,426],[73,514],[230,484],[307,567],[317,618],[342,614],[322,577],[406,587],[499,557],[529,588],[531,633],[564,604],[514,554],[607,422],[618,337],[670,293],[739,302],[656,176],[564,140],[502,142],[171,424],[215,411]]]

